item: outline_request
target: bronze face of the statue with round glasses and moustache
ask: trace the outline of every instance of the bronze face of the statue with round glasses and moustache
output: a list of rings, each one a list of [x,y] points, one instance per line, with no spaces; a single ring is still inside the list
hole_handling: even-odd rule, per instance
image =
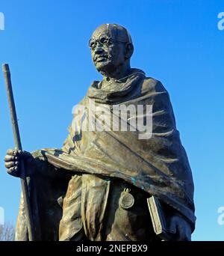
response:
[[[125,61],[125,43],[106,36],[107,31],[96,29],[90,40],[93,64],[100,73],[110,74]]]

